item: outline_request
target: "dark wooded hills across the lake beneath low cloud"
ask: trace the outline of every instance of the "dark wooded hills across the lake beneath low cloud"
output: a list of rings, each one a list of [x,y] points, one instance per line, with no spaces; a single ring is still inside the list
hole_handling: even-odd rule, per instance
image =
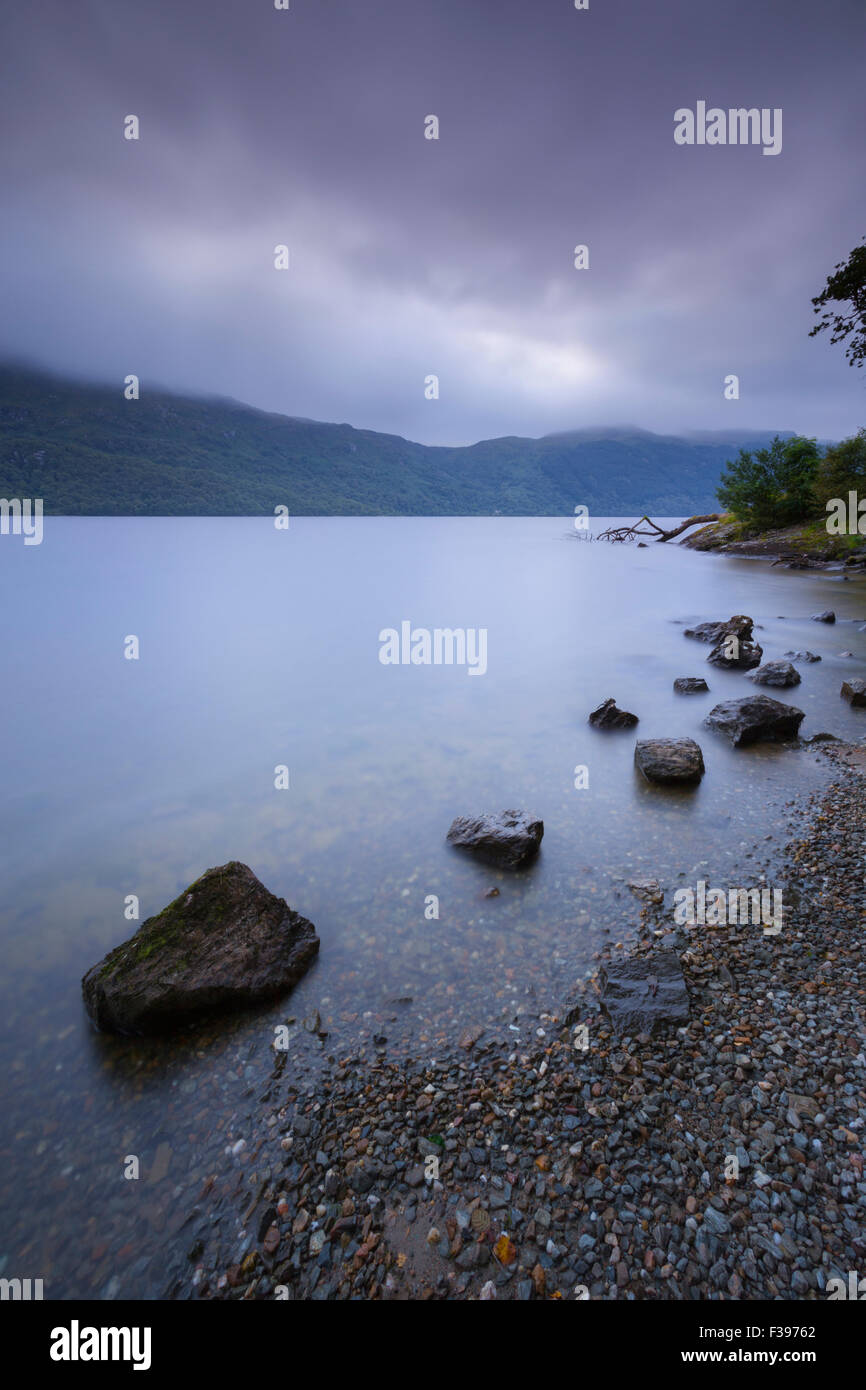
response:
[[[0,368],[0,496],[67,516],[687,516],[737,449],[771,432],[632,427],[434,448],[234,400]]]

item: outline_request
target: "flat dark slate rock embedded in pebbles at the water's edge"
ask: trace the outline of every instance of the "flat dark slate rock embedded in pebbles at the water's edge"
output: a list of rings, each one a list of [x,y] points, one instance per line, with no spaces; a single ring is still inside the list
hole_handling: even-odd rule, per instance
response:
[[[653,951],[601,969],[601,1004],[620,1037],[688,1023],[688,990],[676,951]]]

